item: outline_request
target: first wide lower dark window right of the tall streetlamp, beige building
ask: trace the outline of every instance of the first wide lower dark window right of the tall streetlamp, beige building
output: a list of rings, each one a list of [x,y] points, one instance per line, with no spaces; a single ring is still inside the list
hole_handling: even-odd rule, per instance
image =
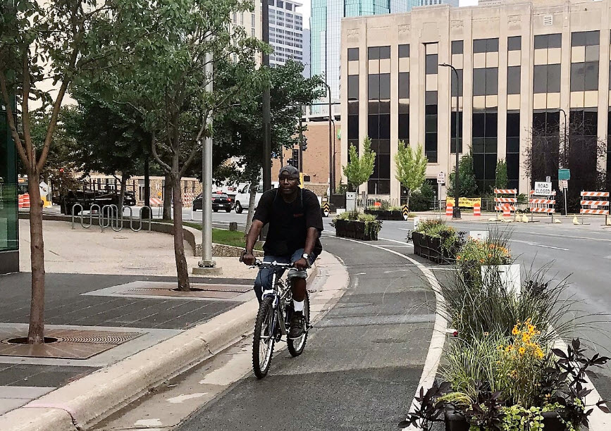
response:
[[[473,113],[473,170],[479,192],[494,187],[497,162],[498,113]]]

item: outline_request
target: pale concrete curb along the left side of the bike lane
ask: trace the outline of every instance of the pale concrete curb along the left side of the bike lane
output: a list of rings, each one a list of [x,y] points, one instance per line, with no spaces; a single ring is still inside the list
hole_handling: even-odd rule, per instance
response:
[[[308,282],[316,277],[313,266]],[[1,431],[82,431],[150,389],[223,351],[252,330],[252,299],[0,416]]]

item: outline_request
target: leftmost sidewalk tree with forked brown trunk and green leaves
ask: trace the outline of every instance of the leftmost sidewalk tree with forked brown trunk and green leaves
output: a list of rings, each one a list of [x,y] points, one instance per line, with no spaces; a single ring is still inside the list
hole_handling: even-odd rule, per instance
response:
[[[16,0],[0,4],[0,92],[11,137],[27,174],[32,203],[32,300],[27,333],[30,344],[44,342],[44,242],[39,182],[68,87],[76,76],[101,67],[101,60],[121,49],[121,46],[109,46],[106,50],[90,47],[101,25],[119,15],[109,13],[110,8],[110,3],[97,0]],[[56,92],[39,88],[47,80],[56,84]],[[42,111],[50,113],[39,151],[32,140],[32,101],[42,104]],[[13,106],[18,106],[16,112]],[[13,113],[20,122],[20,130]]]

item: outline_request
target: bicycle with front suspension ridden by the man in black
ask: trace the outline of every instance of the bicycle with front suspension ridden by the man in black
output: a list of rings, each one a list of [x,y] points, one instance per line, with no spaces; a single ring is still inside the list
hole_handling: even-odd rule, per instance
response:
[[[305,319],[304,333],[301,337],[290,339],[288,325],[292,316],[292,292],[290,285],[285,284],[278,273],[294,268],[292,263],[261,262],[256,261],[254,266],[271,268],[273,272],[271,289],[263,292],[257,320],[254,323],[254,337],[252,339],[252,369],[257,378],[267,375],[271,365],[273,346],[282,341],[285,336],[288,351],[291,356],[300,356],[307,342],[309,325],[309,296],[306,291],[303,315]]]

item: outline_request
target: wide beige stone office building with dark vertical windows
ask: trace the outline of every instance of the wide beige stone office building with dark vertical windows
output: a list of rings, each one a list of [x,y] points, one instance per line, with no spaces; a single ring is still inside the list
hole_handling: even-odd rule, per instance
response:
[[[577,188],[594,187],[593,177],[611,167],[610,6],[540,0],[345,18],[342,165],[348,145],[358,148],[369,136],[377,153],[370,194],[402,196],[394,163],[400,140],[424,146],[431,181],[447,174],[455,161],[457,95],[459,151],[472,151],[482,193],[493,187],[500,160],[509,187],[520,193],[546,176],[557,188],[566,113],[569,193],[579,196]],[[455,66],[457,82],[440,63]],[[537,168],[526,169],[529,151]]]

